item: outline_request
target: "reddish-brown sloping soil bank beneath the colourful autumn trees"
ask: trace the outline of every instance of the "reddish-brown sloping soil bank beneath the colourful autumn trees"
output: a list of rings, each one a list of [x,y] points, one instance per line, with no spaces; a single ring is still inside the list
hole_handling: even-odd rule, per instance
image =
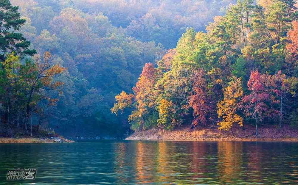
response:
[[[298,142],[298,129],[283,126],[262,126],[258,128],[258,137],[255,135],[255,127],[246,126],[240,128],[234,126],[229,131],[220,131],[217,127],[190,126],[166,131],[161,128],[153,128],[146,131],[135,132],[126,140],[164,140],[164,141],[295,141]]]

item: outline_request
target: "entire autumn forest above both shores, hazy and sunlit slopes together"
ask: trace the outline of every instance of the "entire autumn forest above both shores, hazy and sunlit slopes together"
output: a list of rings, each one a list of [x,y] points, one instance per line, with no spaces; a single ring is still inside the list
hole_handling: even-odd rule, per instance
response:
[[[294,0],[0,0],[0,136],[298,128]]]

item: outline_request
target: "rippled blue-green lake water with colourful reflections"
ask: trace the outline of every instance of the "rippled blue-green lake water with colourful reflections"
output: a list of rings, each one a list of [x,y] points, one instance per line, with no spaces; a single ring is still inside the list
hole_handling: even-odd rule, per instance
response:
[[[33,181],[6,181],[14,167]],[[297,142],[0,144],[0,184],[298,184]]]

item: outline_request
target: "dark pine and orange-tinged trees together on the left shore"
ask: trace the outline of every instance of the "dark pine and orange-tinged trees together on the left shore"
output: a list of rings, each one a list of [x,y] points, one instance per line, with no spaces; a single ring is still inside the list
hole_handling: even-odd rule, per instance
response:
[[[28,49],[30,42],[14,32],[25,23],[17,10],[8,0],[0,2],[0,134],[10,136],[23,131],[29,134],[28,130],[32,135],[33,112],[42,115],[40,104],[43,107],[56,104],[63,82],[54,77],[66,70],[52,63],[49,52],[42,59],[35,55],[34,59],[25,58],[21,62],[20,58],[32,56],[36,51]],[[28,129],[29,123],[31,129]],[[35,126],[35,132],[38,128],[39,125]]]

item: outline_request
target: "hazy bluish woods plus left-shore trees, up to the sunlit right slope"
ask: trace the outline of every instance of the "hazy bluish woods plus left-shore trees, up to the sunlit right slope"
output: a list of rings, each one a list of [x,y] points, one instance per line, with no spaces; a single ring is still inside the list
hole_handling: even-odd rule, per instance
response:
[[[71,136],[123,135],[128,113],[111,114],[114,96],[132,93],[143,66],[156,65],[187,27],[204,31],[235,2],[1,1],[1,135],[28,134],[29,125]]]

